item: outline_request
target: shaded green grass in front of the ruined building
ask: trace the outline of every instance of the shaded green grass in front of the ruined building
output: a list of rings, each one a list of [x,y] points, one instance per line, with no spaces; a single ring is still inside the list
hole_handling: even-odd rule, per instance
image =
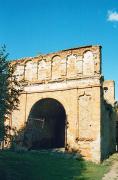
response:
[[[61,153],[0,151],[0,180],[101,180],[107,164]]]

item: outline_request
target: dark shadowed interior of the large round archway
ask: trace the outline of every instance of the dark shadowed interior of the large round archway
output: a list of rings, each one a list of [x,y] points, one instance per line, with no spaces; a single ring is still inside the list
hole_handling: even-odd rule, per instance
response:
[[[64,107],[55,99],[38,101],[31,109],[24,134],[24,145],[30,149],[65,146]]]

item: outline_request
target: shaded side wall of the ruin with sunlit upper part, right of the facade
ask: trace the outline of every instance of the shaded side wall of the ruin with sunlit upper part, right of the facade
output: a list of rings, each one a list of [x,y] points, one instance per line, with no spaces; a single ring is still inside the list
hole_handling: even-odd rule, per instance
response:
[[[101,157],[107,158],[116,148],[116,112],[114,81],[103,82],[101,99]]]

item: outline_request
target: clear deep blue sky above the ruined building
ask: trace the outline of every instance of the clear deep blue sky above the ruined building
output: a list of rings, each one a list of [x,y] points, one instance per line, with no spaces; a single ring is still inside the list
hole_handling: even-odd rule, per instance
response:
[[[118,99],[117,0],[0,0],[0,44],[10,59],[102,45],[103,74]]]

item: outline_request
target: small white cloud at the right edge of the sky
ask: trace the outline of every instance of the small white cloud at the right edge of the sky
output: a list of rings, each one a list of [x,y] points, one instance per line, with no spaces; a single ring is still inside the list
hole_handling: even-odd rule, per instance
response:
[[[116,11],[108,11],[107,21],[117,22],[118,21],[118,12],[116,12]]]

